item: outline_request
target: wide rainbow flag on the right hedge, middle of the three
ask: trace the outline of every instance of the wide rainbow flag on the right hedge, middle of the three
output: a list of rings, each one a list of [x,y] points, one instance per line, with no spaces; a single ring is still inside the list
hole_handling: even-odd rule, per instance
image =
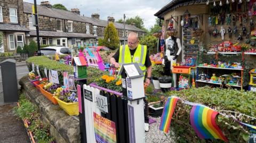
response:
[[[215,122],[219,113],[201,104],[194,105],[190,112],[190,123],[201,139],[221,139],[228,141]]]

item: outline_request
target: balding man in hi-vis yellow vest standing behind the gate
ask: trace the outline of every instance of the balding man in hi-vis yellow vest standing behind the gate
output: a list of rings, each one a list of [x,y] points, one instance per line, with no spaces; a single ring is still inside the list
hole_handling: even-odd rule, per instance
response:
[[[128,45],[120,46],[120,48],[115,53],[115,55],[110,58],[110,63],[115,65],[116,68],[120,68],[122,64],[126,64],[126,63],[134,63],[134,62],[138,63],[144,75],[146,75],[146,72],[147,72],[145,85],[148,86],[151,81],[152,66],[151,66],[151,61],[149,59],[147,46],[139,44],[139,37],[138,37],[138,34],[135,32],[129,33],[127,43]],[[146,100],[144,100],[144,102],[145,102],[145,110],[144,110],[145,131],[148,131],[149,130],[148,103]]]

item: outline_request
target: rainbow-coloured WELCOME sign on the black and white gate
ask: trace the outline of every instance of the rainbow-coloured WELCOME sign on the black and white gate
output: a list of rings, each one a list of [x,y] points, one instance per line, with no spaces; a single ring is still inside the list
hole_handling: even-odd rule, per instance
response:
[[[94,132],[97,143],[116,142],[116,124],[93,112]]]

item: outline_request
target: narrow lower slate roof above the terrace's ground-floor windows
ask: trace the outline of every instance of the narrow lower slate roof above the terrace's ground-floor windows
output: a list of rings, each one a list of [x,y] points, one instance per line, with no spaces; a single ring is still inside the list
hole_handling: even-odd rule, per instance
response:
[[[30,36],[36,36],[36,30],[30,30]],[[39,31],[39,36],[42,37],[71,37],[71,38],[96,38],[91,34],[86,33],[70,33],[70,32],[56,32],[56,31]]]

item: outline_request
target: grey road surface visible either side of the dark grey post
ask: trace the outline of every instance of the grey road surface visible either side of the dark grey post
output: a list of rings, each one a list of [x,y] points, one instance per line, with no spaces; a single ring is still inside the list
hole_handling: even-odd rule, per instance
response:
[[[1,69],[1,68],[0,68]],[[18,80],[18,87],[20,88],[19,85],[19,80],[24,76],[28,74],[28,68],[27,65],[24,66],[17,66],[16,67],[16,72],[17,72],[17,80]],[[2,73],[0,72],[0,106],[4,104],[4,99],[3,99],[3,82],[2,82]]]

